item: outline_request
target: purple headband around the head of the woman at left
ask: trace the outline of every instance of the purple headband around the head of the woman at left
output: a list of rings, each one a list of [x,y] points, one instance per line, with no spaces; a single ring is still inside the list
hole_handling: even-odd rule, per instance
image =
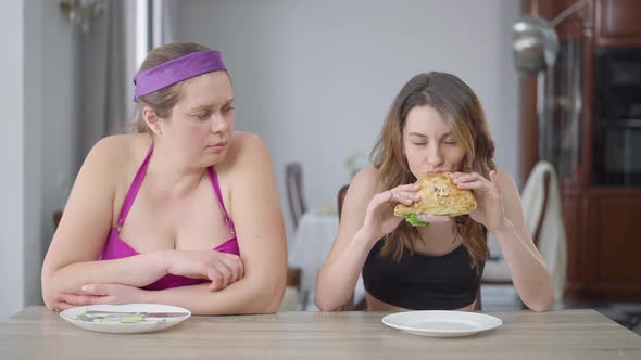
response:
[[[194,76],[225,69],[219,51],[192,52],[138,73],[134,77],[134,85],[136,86],[134,101],[137,102],[140,97]]]

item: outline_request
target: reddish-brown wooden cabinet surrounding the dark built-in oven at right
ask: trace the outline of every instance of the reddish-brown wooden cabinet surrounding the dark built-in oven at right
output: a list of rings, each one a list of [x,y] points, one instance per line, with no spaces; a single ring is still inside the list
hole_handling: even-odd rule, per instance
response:
[[[552,20],[574,3],[525,0],[523,12]],[[527,178],[539,158],[539,137],[549,139],[542,154],[560,178],[568,248],[566,297],[639,301],[641,183],[600,183],[594,164],[604,152],[595,141],[604,121],[595,113],[598,54],[615,48],[641,51],[641,1],[591,1],[558,24],[556,31],[560,53],[546,73],[552,83],[544,97],[545,106],[552,108],[548,126],[539,128],[537,119],[536,75],[521,77],[521,176]]]

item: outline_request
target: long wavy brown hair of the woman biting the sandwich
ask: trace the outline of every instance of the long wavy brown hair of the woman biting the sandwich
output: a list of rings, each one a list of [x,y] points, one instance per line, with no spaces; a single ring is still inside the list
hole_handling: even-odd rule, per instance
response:
[[[478,172],[488,178],[490,171],[495,169],[494,141],[478,98],[456,76],[428,73],[419,74],[405,83],[387,114],[382,131],[370,154],[372,163],[378,170],[377,182],[384,189],[392,189],[416,181],[403,154],[403,130],[410,111],[414,106],[425,105],[437,110],[450,123],[456,142],[465,150],[462,168],[458,170]],[[472,267],[479,272],[479,265],[489,256],[487,230],[468,215],[453,220],[454,241],[461,237],[472,257]],[[420,239],[418,230],[403,221],[385,237],[381,253],[393,250],[393,258],[399,261],[404,249],[414,253],[416,239]]]

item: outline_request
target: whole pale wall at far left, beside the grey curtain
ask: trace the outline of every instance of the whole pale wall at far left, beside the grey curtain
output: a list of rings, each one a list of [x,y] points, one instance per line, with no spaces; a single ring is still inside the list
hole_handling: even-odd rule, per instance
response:
[[[75,30],[56,1],[11,2],[0,34],[0,319],[41,304],[40,269],[53,234],[52,213],[73,181]]]

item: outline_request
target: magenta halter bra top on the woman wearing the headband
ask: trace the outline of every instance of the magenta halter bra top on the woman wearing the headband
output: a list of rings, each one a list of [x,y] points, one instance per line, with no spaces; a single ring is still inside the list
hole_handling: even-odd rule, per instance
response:
[[[136,200],[136,195],[138,194],[138,190],[142,184],[142,179],[144,179],[144,175],[147,173],[147,167],[149,165],[149,159],[151,158],[151,153],[153,152],[153,143],[149,146],[149,151],[147,152],[147,156],[144,157],[144,162],[140,165],[136,177],[134,178],[134,182],[131,182],[131,187],[129,187],[129,191],[127,192],[127,196],[125,197],[125,202],[123,204],[123,208],[121,209],[121,216],[118,217],[118,222],[115,228],[112,228],[109,232],[109,236],[106,237],[106,242],[104,243],[104,248],[102,249],[102,255],[100,256],[101,260],[112,260],[112,259],[122,259],[125,257],[139,255],[140,253],[136,252],[129,244],[123,241],[120,236],[120,230],[123,228],[125,223],[125,219],[127,218],[127,214],[129,214],[129,209],[131,205],[134,205],[134,200]],[[216,176],[216,171],[212,168],[208,168],[208,172],[210,175],[210,179],[216,192],[216,198],[218,200],[218,206],[221,206],[221,210],[223,211],[223,216],[225,217],[225,222],[229,228],[229,231],[234,235],[234,237],[229,239],[228,241],[224,242],[223,244],[216,246],[214,250],[227,254],[235,254],[240,256],[240,249],[238,248],[238,242],[236,241],[236,230],[234,228],[234,222],[227,216],[227,210],[225,209],[225,204],[223,204],[223,195],[221,194],[221,187],[218,184],[218,177]],[[209,280],[206,279],[191,279],[187,277],[179,277],[174,274],[166,274],[163,278],[159,279],[152,284],[149,284],[142,288],[144,290],[165,290],[171,287],[178,287],[178,286],[187,286],[187,285],[194,285],[194,284],[202,284],[206,283]]]

